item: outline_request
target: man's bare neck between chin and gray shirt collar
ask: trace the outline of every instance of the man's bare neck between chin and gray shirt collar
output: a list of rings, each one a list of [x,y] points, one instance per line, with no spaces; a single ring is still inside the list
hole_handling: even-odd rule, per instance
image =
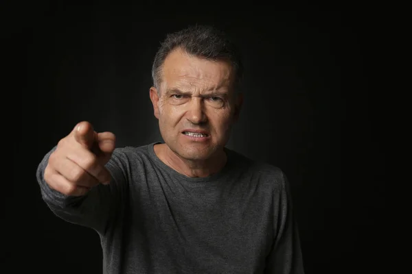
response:
[[[175,171],[188,177],[207,177],[218,173],[227,162],[225,151],[216,151],[215,155],[206,160],[187,160],[172,151],[168,145],[155,146],[157,157]]]

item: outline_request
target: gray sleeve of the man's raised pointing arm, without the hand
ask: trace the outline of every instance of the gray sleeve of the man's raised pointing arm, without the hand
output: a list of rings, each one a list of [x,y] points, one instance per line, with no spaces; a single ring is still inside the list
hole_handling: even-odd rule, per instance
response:
[[[52,189],[45,182],[44,172],[49,156],[56,150],[49,151],[38,165],[36,171],[37,182],[40,186],[41,197],[52,212],[61,219],[90,227],[100,234],[105,234],[108,225],[122,209],[123,196],[127,188],[127,162],[124,153],[115,149],[106,168],[112,175],[110,184],[99,184],[81,197],[63,195]]]

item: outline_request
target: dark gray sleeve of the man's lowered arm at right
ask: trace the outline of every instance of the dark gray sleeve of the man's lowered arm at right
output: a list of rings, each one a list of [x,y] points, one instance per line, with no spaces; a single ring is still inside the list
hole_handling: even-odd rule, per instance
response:
[[[288,180],[282,173],[282,184],[273,195],[275,240],[264,273],[304,274],[304,263],[297,222],[293,216]]]

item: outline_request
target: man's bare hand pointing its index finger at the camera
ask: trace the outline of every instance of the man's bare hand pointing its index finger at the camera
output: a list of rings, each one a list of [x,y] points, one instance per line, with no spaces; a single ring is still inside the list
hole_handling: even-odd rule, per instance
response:
[[[105,164],[115,149],[115,135],[97,133],[88,122],[80,122],[62,138],[49,157],[44,179],[65,195],[81,196],[97,184],[108,184],[111,175]]]

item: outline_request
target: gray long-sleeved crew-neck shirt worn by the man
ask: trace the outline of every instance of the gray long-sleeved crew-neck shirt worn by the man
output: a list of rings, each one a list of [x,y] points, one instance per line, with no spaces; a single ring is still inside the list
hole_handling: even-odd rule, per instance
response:
[[[163,163],[152,142],[116,148],[111,184],[83,197],[49,188],[42,197],[60,218],[100,235],[104,273],[304,273],[288,182],[276,166],[225,147],[227,164],[187,177]]]

